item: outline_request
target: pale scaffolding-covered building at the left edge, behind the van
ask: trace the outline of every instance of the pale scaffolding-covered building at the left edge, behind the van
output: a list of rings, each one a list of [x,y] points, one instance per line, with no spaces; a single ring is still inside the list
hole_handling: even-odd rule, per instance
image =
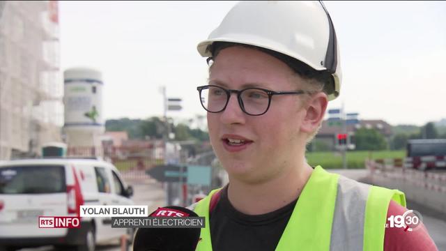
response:
[[[61,141],[57,1],[0,1],[0,160]]]

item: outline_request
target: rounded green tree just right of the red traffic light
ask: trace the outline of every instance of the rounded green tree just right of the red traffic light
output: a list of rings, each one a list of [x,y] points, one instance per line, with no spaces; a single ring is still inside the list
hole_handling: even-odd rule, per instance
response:
[[[387,142],[378,130],[360,128],[355,132],[356,149],[357,150],[385,150]]]

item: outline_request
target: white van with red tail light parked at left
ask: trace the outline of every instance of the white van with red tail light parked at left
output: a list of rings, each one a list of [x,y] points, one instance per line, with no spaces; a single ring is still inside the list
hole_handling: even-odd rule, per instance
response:
[[[78,229],[39,228],[39,216],[79,216],[81,205],[132,205],[131,186],[118,169],[96,159],[52,158],[0,162],[0,250],[55,245],[93,251],[133,229],[111,218],[82,218]]]

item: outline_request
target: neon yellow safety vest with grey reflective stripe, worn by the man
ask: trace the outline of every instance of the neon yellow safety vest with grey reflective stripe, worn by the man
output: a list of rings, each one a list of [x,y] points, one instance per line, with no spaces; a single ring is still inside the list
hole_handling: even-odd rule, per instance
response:
[[[220,190],[220,189],[217,189]],[[206,218],[196,250],[210,251],[210,197],[192,208]],[[275,250],[383,250],[390,199],[402,206],[402,192],[379,188],[316,167]]]

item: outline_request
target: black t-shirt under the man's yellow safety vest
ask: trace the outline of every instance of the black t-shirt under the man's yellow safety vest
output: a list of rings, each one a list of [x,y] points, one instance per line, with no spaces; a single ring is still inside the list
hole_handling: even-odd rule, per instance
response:
[[[213,250],[275,250],[298,199],[270,213],[246,215],[231,205],[227,189],[209,215]]]

